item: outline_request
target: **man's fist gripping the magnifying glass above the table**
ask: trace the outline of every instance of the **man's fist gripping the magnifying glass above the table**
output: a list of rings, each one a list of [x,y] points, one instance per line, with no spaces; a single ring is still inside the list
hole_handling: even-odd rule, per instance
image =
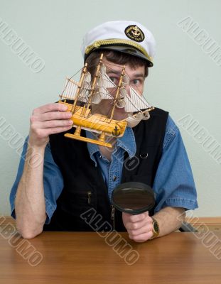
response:
[[[122,213],[123,222],[129,238],[137,242],[147,241],[153,236],[153,219],[149,212],[138,215]]]

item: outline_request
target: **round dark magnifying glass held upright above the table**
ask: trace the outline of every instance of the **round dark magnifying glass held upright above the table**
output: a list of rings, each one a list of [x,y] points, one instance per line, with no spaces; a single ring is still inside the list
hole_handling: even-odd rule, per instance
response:
[[[142,182],[124,182],[112,192],[112,205],[121,212],[141,214],[150,211],[154,204],[155,192]]]

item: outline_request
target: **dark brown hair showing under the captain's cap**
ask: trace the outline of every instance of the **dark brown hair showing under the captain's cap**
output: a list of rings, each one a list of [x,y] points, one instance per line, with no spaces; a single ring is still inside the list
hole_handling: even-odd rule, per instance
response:
[[[128,64],[131,68],[144,66],[144,76],[148,76],[149,70],[148,62],[146,62],[146,60],[126,53],[120,53],[119,51],[115,50],[95,50],[87,57],[85,62],[87,62],[87,69],[92,75],[95,74],[95,68],[99,62],[99,57],[102,53],[104,54],[104,57],[107,58],[107,60],[119,65]]]

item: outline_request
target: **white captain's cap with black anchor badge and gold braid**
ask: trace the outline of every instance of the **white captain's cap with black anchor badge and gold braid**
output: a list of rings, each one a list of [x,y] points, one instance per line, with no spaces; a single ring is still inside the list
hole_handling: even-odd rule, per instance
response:
[[[136,21],[109,21],[92,28],[83,38],[85,60],[95,50],[117,50],[142,58],[153,66],[156,42],[152,33]]]

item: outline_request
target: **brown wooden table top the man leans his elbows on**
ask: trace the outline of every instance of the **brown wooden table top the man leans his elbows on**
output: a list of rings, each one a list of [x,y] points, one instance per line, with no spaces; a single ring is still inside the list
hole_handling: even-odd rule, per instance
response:
[[[14,247],[0,234],[0,283],[221,283],[221,260],[210,252],[211,246],[203,245],[200,237],[193,233],[173,233],[137,244],[121,233],[120,241],[129,242],[139,253],[136,262],[129,265],[125,257],[121,258],[107,244],[108,239],[96,232],[44,232],[35,239],[17,241],[14,237],[11,239]],[[221,240],[221,233],[215,237]],[[18,253],[21,241],[23,246],[33,245],[36,262],[31,259],[33,252],[28,256],[28,251],[24,254],[20,249],[26,259]],[[210,240],[204,241],[208,246]],[[109,244],[115,244],[114,240]],[[37,259],[41,256],[38,253],[42,254],[42,260]]]

